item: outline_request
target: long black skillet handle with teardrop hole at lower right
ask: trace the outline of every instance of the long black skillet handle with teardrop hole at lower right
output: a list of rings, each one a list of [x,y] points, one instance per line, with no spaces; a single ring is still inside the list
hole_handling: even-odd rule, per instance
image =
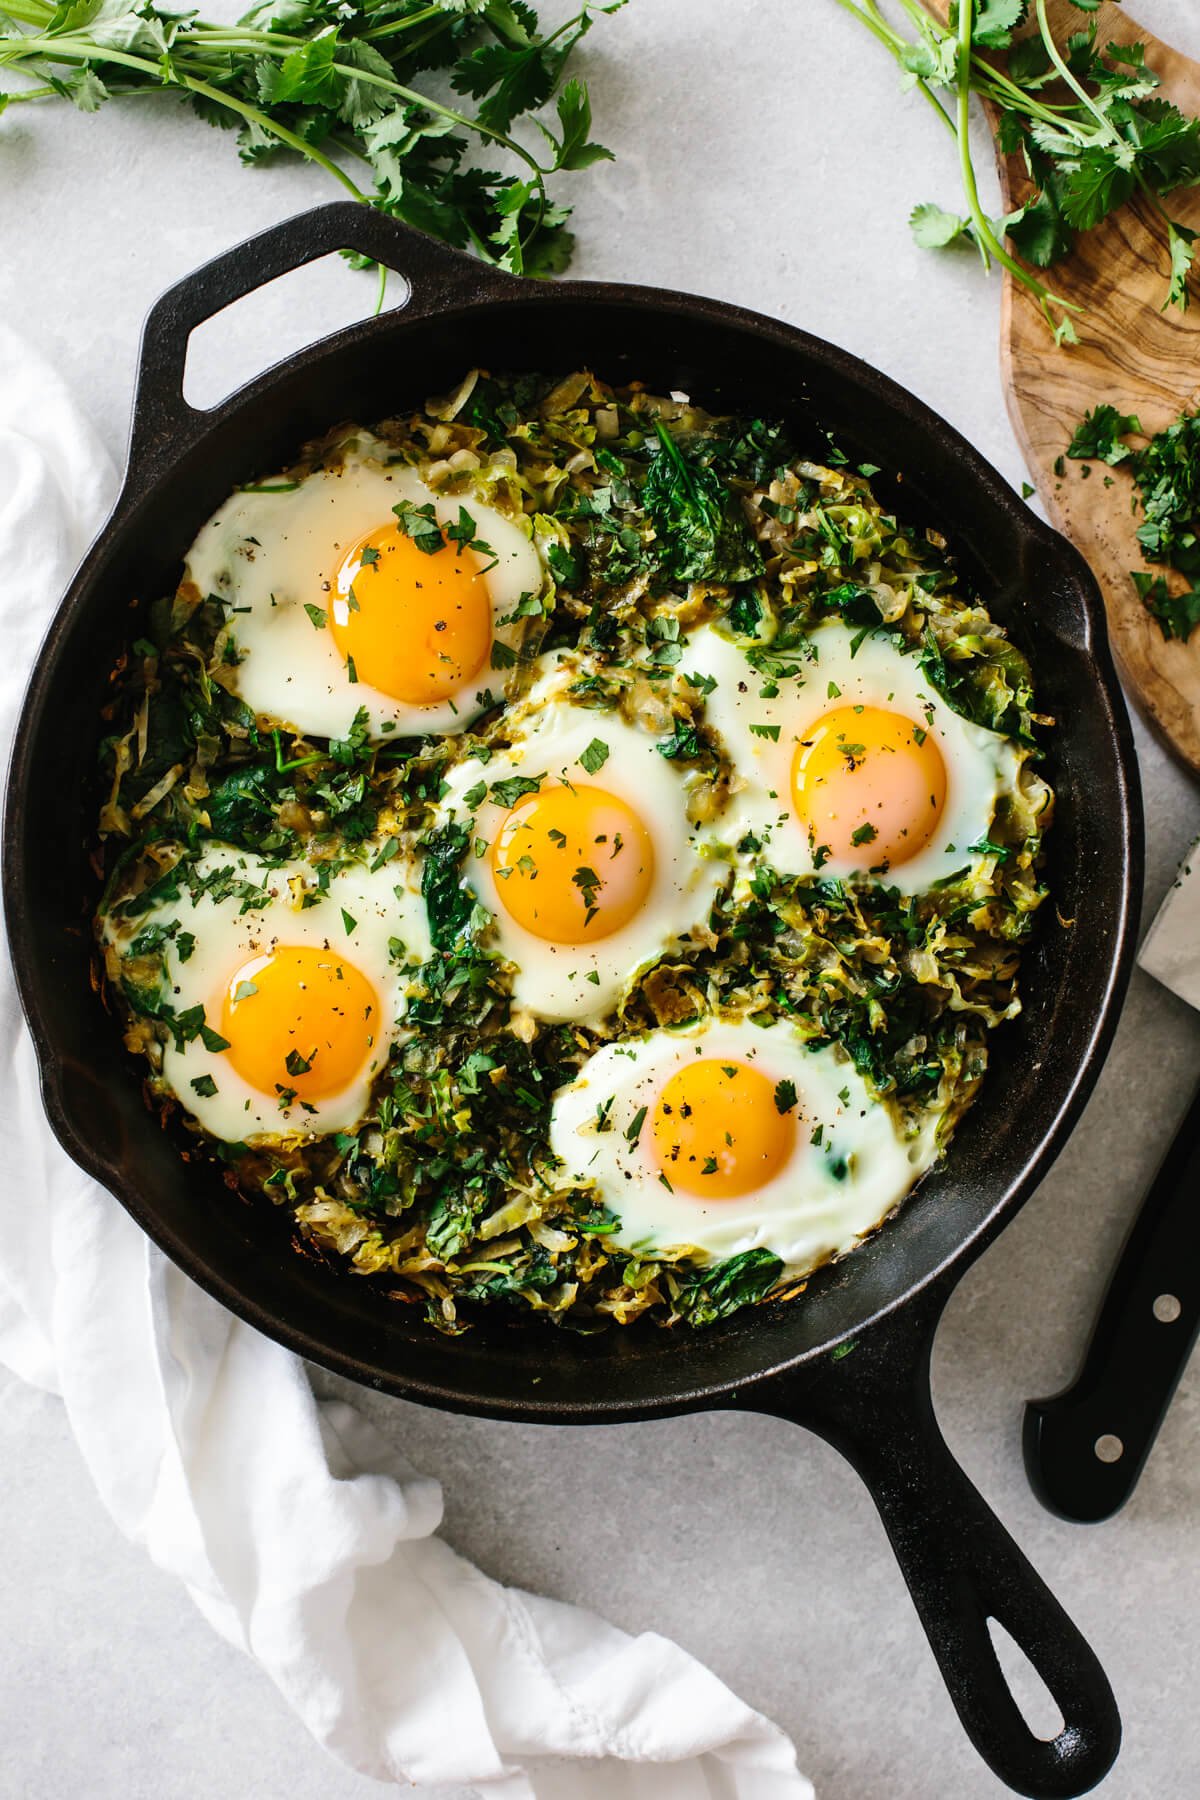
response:
[[[774,1377],[745,1399],[828,1438],[871,1490],[937,1667],[984,1762],[1020,1795],[1070,1800],[1121,1746],[1108,1678],[1078,1627],[946,1449],[930,1397],[930,1350],[946,1291],[910,1301],[801,1382]],[[1043,1741],[1025,1724],[988,1620],[1015,1638],[1063,1715]]]

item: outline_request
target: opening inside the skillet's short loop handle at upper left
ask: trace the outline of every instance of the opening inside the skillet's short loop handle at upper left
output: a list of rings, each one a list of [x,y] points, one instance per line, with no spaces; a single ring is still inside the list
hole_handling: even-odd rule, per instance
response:
[[[405,277],[389,270],[383,310],[405,306],[410,292]],[[218,407],[272,364],[369,319],[378,297],[378,270],[354,270],[336,250],[277,275],[196,326],[187,344],[184,400],[201,412]]]

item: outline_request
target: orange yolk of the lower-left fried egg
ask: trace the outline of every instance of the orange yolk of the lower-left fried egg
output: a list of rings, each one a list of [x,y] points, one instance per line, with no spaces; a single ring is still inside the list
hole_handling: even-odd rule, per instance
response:
[[[221,995],[228,1060],[263,1094],[324,1100],[362,1071],[380,1001],[362,970],[333,950],[282,943],[236,968]]]

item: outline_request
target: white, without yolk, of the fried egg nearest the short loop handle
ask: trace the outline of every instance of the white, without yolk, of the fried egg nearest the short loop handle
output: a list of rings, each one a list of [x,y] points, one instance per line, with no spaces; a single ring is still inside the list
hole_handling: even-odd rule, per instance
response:
[[[344,553],[369,531],[392,522],[399,500],[434,504],[443,526],[466,506],[477,536],[495,554],[484,576],[493,603],[495,639],[513,648],[509,617],[524,594],[545,585],[542,558],[524,520],[506,518],[471,495],[439,495],[376,437],[358,434],[336,466],[304,475],[295,488],[239,491],[212,515],[187,553],[184,580],[203,598],[214,594],[230,610],[241,661],[230,686],[246,706],[270,720],[315,738],[345,736],[360,707],[371,736],[459,733],[506,691],[507,671],[473,675],[459,693],[435,706],[410,706],[351,680],[333,632],[304,610],[327,616],[333,576]],[[488,558],[491,560],[491,558]]]

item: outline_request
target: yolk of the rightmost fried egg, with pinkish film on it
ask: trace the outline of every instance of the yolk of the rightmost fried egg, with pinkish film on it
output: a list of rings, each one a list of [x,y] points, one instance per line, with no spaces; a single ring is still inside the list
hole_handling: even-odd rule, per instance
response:
[[[813,848],[876,868],[925,850],[946,805],[946,765],[934,734],[903,713],[838,706],[792,761],[792,796]]]

